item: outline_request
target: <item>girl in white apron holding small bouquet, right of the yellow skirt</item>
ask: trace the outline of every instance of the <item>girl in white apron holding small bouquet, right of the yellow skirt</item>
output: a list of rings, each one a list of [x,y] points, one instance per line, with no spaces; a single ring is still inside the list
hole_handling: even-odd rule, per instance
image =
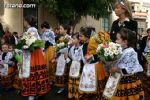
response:
[[[68,42],[71,40],[71,36],[67,34],[68,25],[60,25],[59,32],[61,35],[56,41],[58,41],[58,43],[65,43],[68,45]],[[57,93],[62,93],[68,82],[68,47],[57,51],[57,58],[55,85],[60,87]]]

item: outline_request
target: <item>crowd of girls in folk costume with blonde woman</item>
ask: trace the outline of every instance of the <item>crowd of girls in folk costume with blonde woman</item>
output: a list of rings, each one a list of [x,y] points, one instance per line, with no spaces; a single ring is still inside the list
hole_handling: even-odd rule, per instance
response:
[[[32,33],[38,40],[43,40],[45,47],[33,51],[23,50],[22,62],[15,58],[15,49],[21,36],[17,32],[11,33],[8,28],[4,31],[0,24],[0,95],[3,91],[14,88],[22,96],[28,97],[28,100],[34,100],[36,96],[42,97],[51,91],[53,86],[57,86],[60,88],[57,93],[68,91],[69,99],[107,100],[108,98],[103,95],[106,82],[110,74],[118,72],[122,77],[111,99],[144,100],[144,93],[150,93],[150,82],[147,75],[149,64],[142,53],[150,50],[147,47],[150,29],[147,29],[148,35],[137,42],[138,25],[132,19],[127,4],[117,3],[115,13],[118,19],[113,22],[110,34],[104,31],[96,33],[95,28],[90,26],[81,27],[76,33],[69,25],[60,25],[53,30],[47,21],[44,21],[38,30],[34,16],[26,16],[26,32]],[[123,49],[120,59],[109,71],[96,52],[98,45],[104,42],[103,39],[110,39],[120,44]],[[58,49],[60,43],[64,43],[66,47]],[[138,49],[137,43],[140,44]],[[26,72],[29,75],[20,78],[22,65],[28,66],[30,70]],[[91,72],[88,75],[88,70],[94,71],[95,74]],[[141,78],[143,72],[144,78]],[[96,85],[93,86],[94,83],[91,83],[91,87],[96,88],[95,90],[81,89],[84,85],[85,88],[89,88],[86,81],[83,81],[86,80],[86,75],[87,79],[94,77],[93,82]]]

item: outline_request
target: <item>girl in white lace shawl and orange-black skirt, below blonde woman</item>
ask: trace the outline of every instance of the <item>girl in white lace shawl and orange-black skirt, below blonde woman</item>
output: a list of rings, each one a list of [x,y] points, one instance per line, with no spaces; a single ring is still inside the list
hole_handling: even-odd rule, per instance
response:
[[[135,38],[136,34],[129,29],[123,28],[117,33],[116,42],[122,46],[123,54],[117,61],[117,67],[112,67],[110,73],[119,72],[122,77],[111,100],[144,100],[144,91],[137,74],[142,72],[143,68],[133,49]]]

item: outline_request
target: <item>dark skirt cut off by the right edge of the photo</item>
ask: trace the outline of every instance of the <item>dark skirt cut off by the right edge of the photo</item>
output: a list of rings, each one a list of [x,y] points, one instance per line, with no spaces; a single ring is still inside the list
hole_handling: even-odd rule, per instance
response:
[[[144,91],[150,95],[150,76],[147,76],[147,67],[148,64],[145,63],[144,65],[144,80],[143,80],[143,88]]]

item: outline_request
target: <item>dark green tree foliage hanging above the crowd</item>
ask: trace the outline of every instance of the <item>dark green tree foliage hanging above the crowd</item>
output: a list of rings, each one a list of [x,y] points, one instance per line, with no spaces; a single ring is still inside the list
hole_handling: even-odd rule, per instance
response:
[[[75,26],[82,16],[90,15],[95,19],[110,14],[116,0],[33,0],[44,5],[55,15],[60,23]]]

